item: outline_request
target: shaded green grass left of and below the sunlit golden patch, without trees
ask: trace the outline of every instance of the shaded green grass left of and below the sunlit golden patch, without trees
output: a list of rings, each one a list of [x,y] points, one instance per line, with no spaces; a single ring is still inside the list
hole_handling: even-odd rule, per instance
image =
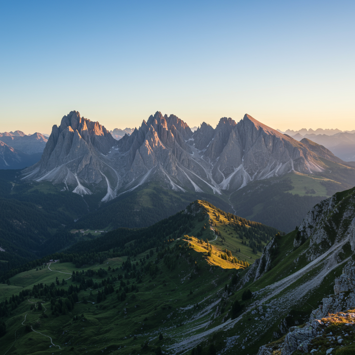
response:
[[[195,252],[192,250],[191,253]],[[138,255],[137,260],[142,257],[144,255]],[[199,264],[203,261],[201,254],[197,255],[197,260]],[[110,259],[105,262],[105,265],[100,266],[104,266],[105,269],[108,266],[117,267],[122,264],[122,261],[124,258]],[[53,343],[62,347],[61,350],[52,347],[51,352],[54,354],[86,354],[86,352],[98,354],[99,351],[108,354],[119,347],[126,347],[120,350],[120,354],[132,354],[135,350],[140,354],[151,354],[150,351],[141,352],[140,345],[147,340],[151,340],[151,344],[156,343],[156,345],[167,348],[175,341],[182,340],[186,330],[209,319],[211,314],[198,320],[191,319],[191,315],[196,313],[193,305],[200,302],[202,303],[201,308],[203,305],[207,305],[210,300],[203,301],[206,295],[223,287],[224,283],[228,282],[233,270],[225,272],[222,268],[215,268],[214,283],[211,283],[210,265],[207,263],[201,265],[197,274],[192,272],[194,268],[186,260],[179,260],[178,266],[173,270],[164,266],[162,261],[158,266],[161,272],[152,279],[147,275],[142,284],[138,285],[139,292],[129,293],[124,303],[118,302],[116,293],[113,293],[107,296],[107,300],[101,304],[78,304],[72,314],[55,317],[50,314],[50,303],[45,302],[44,306],[48,309],[49,318],[41,318],[40,324],[34,326],[34,329],[45,335],[50,335]],[[77,270],[70,263],[53,264],[51,269],[68,273]],[[109,275],[117,275],[119,272],[115,271]],[[17,275],[10,281],[14,284],[19,282],[23,286],[31,287],[39,281],[48,284],[54,282],[57,274],[59,273],[44,268]],[[192,278],[190,278],[191,274]],[[100,279],[94,281],[100,281]],[[67,282],[66,287],[70,285],[70,279]],[[136,284],[134,280],[133,283]],[[115,289],[118,288],[117,285],[119,283],[116,284]],[[11,286],[3,285],[2,289],[8,289],[7,293],[12,292]],[[191,295],[190,291],[193,292]],[[2,290],[2,292],[5,291]],[[96,291],[93,293],[94,297],[90,296],[89,290],[82,291],[79,298],[82,299],[85,296],[87,300],[95,302]],[[36,302],[38,300],[30,299],[30,301]],[[191,309],[183,310],[181,308],[190,306],[192,306]],[[0,350],[2,352],[11,347],[16,331],[17,340],[11,351],[16,351],[16,354],[48,354],[51,345],[49,339],[33,332],[26,333],[25,325],[21,324],[26,314],[24,324],[34,325],[39,319],[41,313],[30,311],[29,308],[30,302],[26,300],[13,311],[12,317],[7,322],[7,334],[1,338]],[[85,314],[86,322],[72,321],[74,315],[82,313]],[[148,320],[145,320],[146,317]],[[184,324],[179,327],[180,323]],[[176,326],[178,328],[175,328]],[[157,338],[160,331],[164,334],[164,340],[161,342]],[[134,336],[137,339],[134,339]],[[66,346],[65,343],[67,343]],[[74,346],[74,352],[70,352],[71,346]],[[8,354],[11,354],[11,351]]]

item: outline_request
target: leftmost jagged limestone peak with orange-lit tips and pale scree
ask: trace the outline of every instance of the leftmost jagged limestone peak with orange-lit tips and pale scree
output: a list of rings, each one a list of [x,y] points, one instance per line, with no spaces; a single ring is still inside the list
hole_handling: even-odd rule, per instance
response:
[[[102,157],[115,145],[111,134],[98,122],[71,111],[59,127],[52,127],[41,160],[24,170],[24,179],[64,183],[64,189],[76,186],[73,192],[90,194],[82,184],[107,183],[105,174],[109,167]]]

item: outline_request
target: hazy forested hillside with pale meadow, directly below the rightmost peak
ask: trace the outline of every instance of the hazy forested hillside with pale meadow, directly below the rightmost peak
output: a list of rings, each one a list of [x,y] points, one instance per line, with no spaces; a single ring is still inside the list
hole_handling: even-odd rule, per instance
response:
[[[320,201],[355,185],[354,168],[321,158],[324,171],[254,181],[229,197],[239,216],[291,232]]]

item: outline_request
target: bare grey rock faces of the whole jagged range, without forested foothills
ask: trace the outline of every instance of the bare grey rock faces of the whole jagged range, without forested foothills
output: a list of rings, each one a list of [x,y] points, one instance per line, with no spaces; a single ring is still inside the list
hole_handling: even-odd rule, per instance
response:
[[[81,195],[107,189],[102,201],[149,181],[179,192],[222,194],[249,182],[291,171],[322,172],[321,158],[340,159],[258,122],[221,118],[213,129],[203,122],[192,132],[174,115],[156,112],[119,141],[98,122],[72,111],[53,126],[41,161],[24,179],[64,183]],[[324,148],[324,147],[322,147]]]

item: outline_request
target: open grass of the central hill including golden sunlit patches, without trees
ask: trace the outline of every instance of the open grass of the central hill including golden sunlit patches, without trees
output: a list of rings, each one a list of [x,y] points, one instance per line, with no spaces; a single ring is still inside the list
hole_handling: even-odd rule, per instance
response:
[[[133,354],[134,351],[140,354],[150,354],[150,351],[141,352],[140,345],[147,340],[151,341],[151,345],[157,343],[168,353],[174,353],[173,350],[169,350],[169,347],[185,339],[186,334],[191,332],[199,334],[203,330],[203,328],[199,327],[195,329],[195,326],[200,326],[211,319],[216,310],[216,304],[213,307],[210,307],[210,304],[220,299],[218,292],[224,289],[226,283],[230,282],[231,275],[237,269],[243,269],[242,265],[223,260],[217,254],[208,258],[206,248],[198,243],[196,238],[192,238],[193,235],[201,231],[204,225],[209,226],[210,220],[218,223],[217,227],[229,227],[224,224],[227,220],[223,215],[220,216],[220,222],[217,222],[213,215],[214,210],[203,202],[200,203],[205,208],[208,207],[208,214],[205,215],[203,220],[199,220],[196,217],[194,226],[189,233],[192,240],[185,242],[180,238],[180,240],[170,244],[170,249],[172,250],[175,245],[185,245],[188,251],[182,254],[180,249],[177,249],[177,252],[173,253],[171,257],[172,263],[169,261],[169,264],[164,263],[164,260],[160,260],[157,264],[159,272],[155,276],[149,274],[144,276],[143,282],[138,284],[138,293],[129,293],[125,302],[117,301],[117,294],[113,293],[108,295],[107,300],[101,304],[77,304],[71,314],[59,317],[51,315],[50,303],[48,300],[43,300],[44,306],[48,309],[49,318],[40,318],[40,312],[29,310],[31,302],[39,300],[33,298],[25,300],[18,308],[12,311],[9,318],[5,319],[7,334],[1,338],[1,351],[10,349],[8,354],[11,354],[11,352],[23,354],[26,351],[30,354],[45,354],[51,345],[49,338],[34,332],[27,333],[25,325],[32,324],[35,330],[51,336],[53,343],[63,348],[57,350],[52,347],[51,352],[54,354],[66,354],[70,351],[71,346],[75,348],[74,354],[82,354],[84,347],[87,348],[85,352],[88,351],[88,354],[97,354],[99,349],[100,351],[103,350],[103,354],[108,354],[108,350],[117,350],[119,347],[125,346],[126,348],[120,350],[121,354]],[[222,228],[220,229],[222,230]],[[231,232],[223,231],[222,233],[224,233],[226,238],[225,244],[236,243],[235,240],[237,238],[228,234]],[[170,238],[171,236],[167,236],[167,239]],[[201,238],[203,240],[213,240],[215,235],[210,228],[206,228]],[[212,249],[218,254],[219,250],[222,249],[218,245],[219,239],[220,237],[215,242],[211,242],[215,243]],[[189,243],[190,247],[188,247]],[[241,246],[245,247],[245,253],[248,253],[247,250],[250,248],[244,245]],[[224,247],[225,245],[223,249]],[[137,255],[136,260],[145,259],[149,252],[146,251]],[[236,253],[233,254],[237,255]],[[156,253],[150,260],[155,260],[155,257]],[[108,266],[116,269],[126,260],[127,256],[117,257],[106,260],[101,265],[87,266],[80,270],[98,269],[99,267],[107,270]],[[141,265],[137,268],[141,267],[143,266]],[[51,270],[61,271],[65,274]],[[17,294],[24,288],[32,289],[34,285],[41,282],[49,285],[55,282],[57,276],[59,281],[61,281],[62,278],[69,278],[72,271],[78,271],[71,263],[51,264],[51,270],[46,265],[38,270],[33,269],[15,275],[10,279],[11,285],[0,285],[0,302],[5,298],[9,298],[12,294]],[[120,273],[123,274],[122,270],[118,269],[113,273],[109,272],[109,275],[117,276]],[[94,282],[97,281],[98,283],[101,280],[98,277],[93,279]],[[127,282],[127,280],[125,281]],[[131,284],[137,285],[136,280],[131,279],[130,281]],[[59,288],[66,289],[71,283],[72,281],[69,278],[67,284],[65,286],[60,285]],[[77,283],[74,282],[73,284]],[[119,282],[116,282],[114,289],[118,288]],[[93,290],[92,295],[90,290],[81,291],[79,299],[82,300],[85,297],[89,301],[96,302],[96,295],[97,290]],[[199,306],[196,307],[196,304],[199,304]],[[203,309],[208,307],[210,307],[208,311],[200,314]],[[78,322],[72,319],[74,315],[82,313],[85,314],[87,321],[80,323],[80,328],[78,328]],[[21,323],[24,321],[26,314],[26,321],[22,325]],[[144,320],[146,317],[148,317],[148,320]],[[222,317],[217,315],[218,322],[221,321]],[[37,323],[38,319],[39,323]],[[13,347],[10,348],[15,340],[15,331],[17,340]],[[62,334],[63,331],[65,331],[64,335]],[[163,332],[164,340],[158,342],[157,336],[160,332]],[[137,339],[134,340],[131,336],[137,336]],[[65,343],[67,344],[65,345]],[[109,346],[107,346],[108,344]],[[73,353],[71,352],[70,354]]]

